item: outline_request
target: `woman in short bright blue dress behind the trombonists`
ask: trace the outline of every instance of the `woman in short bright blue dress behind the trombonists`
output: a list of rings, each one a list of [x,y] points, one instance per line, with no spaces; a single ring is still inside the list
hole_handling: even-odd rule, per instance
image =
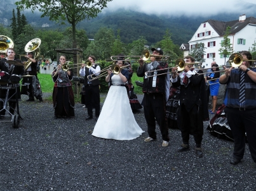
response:
[[[212,65],[212,71],[213,73],[209,73],[206,80],[208,80],[210,85],[210,94],[212,95],[212,109],[209,110],[211,114],[215,114],[215,109],[217,105],[217,96],[219,94],[219,77],[220,73],[216,71],[220,71],[219,65],[213,64]]]

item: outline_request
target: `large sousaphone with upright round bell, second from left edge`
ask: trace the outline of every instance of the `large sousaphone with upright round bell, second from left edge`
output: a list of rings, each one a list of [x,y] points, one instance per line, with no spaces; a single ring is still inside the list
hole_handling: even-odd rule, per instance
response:
[[[29,42],[27,42],[25,46],[25,52],[34,52],[34,59],[38,59],[40,56],[40,49],[39,46],[41,44],[41,39],[32,39]],[[31,65],[32,61],[30,59],[24,63],[24,69],[27,71]]]

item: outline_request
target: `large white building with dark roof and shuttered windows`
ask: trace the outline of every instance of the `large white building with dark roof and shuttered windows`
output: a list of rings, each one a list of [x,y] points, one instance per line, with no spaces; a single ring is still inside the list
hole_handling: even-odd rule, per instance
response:
[[[189,49],[196,46],[196,43],[202,42],[205,44],[205,63],[202,65],[205,68],[209,68],[213,58],[218,65],[225,64],[224,55],[219,54],[219,49],[228,26],[231,27],[229,39],[234,52],[248,51],[256,41],[256,18],[252,16],[246,18],[246,15],[241,15],[239,20],[231,22],[207,20],[201,23],[191,40],[189,40]],[[227,55],[226,61],[229,56]]]

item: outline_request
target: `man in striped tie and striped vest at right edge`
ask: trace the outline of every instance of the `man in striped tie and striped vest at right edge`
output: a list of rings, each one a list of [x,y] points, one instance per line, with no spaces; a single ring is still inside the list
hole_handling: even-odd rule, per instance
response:
[[[238,164],[245,154],[245,133],[248,147],[254,163],[256,163],[256,68],[250,68],[252,54],[241,52],[243,63],[239,70],[225,68],[225,74],[220,76],[220,83],[226,84],[224,109],[227,122],[234,138],[234,151],[229,163]]]

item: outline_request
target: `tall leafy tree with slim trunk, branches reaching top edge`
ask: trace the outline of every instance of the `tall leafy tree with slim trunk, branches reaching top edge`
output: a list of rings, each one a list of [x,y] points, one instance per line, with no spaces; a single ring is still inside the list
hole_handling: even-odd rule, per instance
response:
[[[107,7],[107,3],[112,0],[20,0],[15,4],[20,9],[31,9],[32,13],[36,9],[43,14],[41,17],[50,16],[50,20],[65,21],[72,25],[73,47],[76,48],[76,25],[84,19],[95,18],[98,13]]]

